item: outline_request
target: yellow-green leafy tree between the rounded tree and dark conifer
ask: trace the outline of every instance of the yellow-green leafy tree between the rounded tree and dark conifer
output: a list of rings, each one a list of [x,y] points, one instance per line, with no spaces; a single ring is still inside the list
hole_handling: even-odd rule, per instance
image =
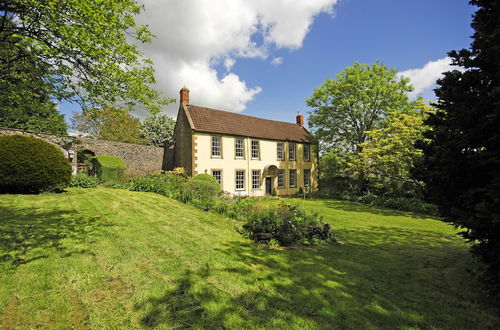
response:
[[[419,99],[412,113],[391,112],[384,128],[367,131],[369,140],[361,143],[362,151],[351,158],[349,167],[355,173],[398,181],[413,181],[411,169],[422,157],[415,146],[428,130],[424,119],[432,107]]]

